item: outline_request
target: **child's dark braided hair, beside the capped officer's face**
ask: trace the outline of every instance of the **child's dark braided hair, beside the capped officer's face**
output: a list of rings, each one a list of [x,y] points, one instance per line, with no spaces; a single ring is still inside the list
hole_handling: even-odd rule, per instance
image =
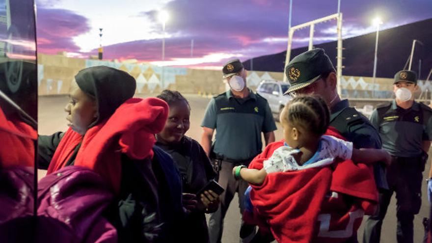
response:
[[[315,135],[323,135],[330,123],[330,112],[318,95],[301,95],[287,104],[284,117],[293,126],[301,126]]]

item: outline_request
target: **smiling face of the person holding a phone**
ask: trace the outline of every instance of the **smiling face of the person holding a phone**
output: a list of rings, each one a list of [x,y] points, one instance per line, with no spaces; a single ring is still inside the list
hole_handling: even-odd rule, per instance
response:
[[[168,119],[158,140],[162,143],[179,142],[189,130],[190,108],[185,101],[169,106]]]

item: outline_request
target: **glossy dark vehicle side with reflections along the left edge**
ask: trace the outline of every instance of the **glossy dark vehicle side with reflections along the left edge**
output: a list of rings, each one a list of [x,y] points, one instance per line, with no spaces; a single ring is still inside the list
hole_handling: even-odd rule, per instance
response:
[[[29,242],[34,214],[37,68],[33,0],[0,0],[0,242]],[[29,234],[19,232],[27,227]],[[27,239],[28,238],[28,239]]]

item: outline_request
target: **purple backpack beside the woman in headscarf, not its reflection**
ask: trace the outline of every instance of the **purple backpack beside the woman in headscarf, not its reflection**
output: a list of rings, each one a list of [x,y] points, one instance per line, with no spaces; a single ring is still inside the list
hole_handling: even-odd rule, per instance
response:
[[[37,242],[117,242],[117,231],[102,216],[112,198],[88,168],[66,166],[47,175],[38,184]]]

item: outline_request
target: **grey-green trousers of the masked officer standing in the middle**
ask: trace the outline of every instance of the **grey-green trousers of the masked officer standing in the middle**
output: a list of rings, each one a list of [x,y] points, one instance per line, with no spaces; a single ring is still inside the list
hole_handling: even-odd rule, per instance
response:
[[[239,193],[239,207],[240,213],[243,214],[243,198],[244,191],[249,184],[243,180],[236,180],[233,176],[233,167],[235,165],[231,162],[222,161],[221,169],[219,171],[218,183],[225,191],[220,195],[220,205],[217,211],[210,215],[209,220],[209,236],[210,243],[220,243],[223,231],[223,219],[225,218],[226,211],[229,204],[236,192]],[[243,224],[243,220],[242,220]],[[240,234],[239,234],[240,235]],[[240,239],[240,237],[239,237]]]

